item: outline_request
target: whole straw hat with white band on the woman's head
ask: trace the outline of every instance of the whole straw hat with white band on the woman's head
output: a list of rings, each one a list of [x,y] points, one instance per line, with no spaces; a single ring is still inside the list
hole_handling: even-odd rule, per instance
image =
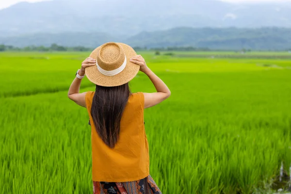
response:
[[[140,66],[129,61],[136,52],[123,43],[109,42],[93,50],[96,65],[85,68],[87,78],[96,85],[112,87],[125,84],[138,73]]]

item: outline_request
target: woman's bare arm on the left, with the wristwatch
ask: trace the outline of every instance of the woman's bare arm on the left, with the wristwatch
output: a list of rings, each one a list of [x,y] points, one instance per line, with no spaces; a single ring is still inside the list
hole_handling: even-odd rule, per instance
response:
[[[87,66],[93,66],[96,65],[96,60],[88,57],[82,62],[81,69],[79,71],[79,75],[83,76],[85,75],[85,68]],[[81,86],[82,79],[75,78],[72,82],[69,91],[68,91],[68,97],[76,102],[76,104],[86,107],[86,101],[85,101],[85,95],[87,92],[79,93],[80,92],[80,86]]]

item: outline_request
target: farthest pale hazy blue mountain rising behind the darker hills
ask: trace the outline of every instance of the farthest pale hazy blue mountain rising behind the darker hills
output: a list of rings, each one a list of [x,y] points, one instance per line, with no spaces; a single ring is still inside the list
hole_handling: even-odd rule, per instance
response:
[[[291,3],[231,4],[215,0],[52,0],[0,10],[0,34],[143,31],[187,27],[291,27]]]

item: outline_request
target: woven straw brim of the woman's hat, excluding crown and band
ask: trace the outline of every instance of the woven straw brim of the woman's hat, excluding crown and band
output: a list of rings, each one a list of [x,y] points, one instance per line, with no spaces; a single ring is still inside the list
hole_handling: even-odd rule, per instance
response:
[[[127,64],[123,71],[114,76],[106,76],[100,73],[97,65],[88,66],[85,68],[85,74],[89,81],[95,83],[96,85],[113,87],[123,85],[130,80],[132,80],[140,69],[140,65],[134,64],[129,61],[130,58],[136,56],[136,52],[129,45],[124,43],[117,43],[124,50]],[[99,53],[101,46],[93,50],[90,57],[97,60],[97,55]]]

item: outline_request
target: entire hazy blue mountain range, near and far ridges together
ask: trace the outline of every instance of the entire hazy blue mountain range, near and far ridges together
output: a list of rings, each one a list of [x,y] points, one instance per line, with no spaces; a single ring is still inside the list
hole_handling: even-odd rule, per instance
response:
[[[0,10],[0,44],[291,49],[291,3],[50,0]]]

